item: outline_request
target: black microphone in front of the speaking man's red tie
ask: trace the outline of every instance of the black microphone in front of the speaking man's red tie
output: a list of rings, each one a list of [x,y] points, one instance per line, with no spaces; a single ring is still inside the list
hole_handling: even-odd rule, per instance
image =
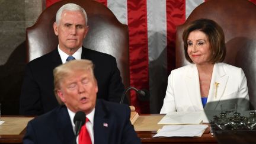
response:
[[[75,123],[75,139],[76,139],[82,125],[85,124],[85,113],[83,111],[76,112],[75,117],[73,119],[73,123]]]

